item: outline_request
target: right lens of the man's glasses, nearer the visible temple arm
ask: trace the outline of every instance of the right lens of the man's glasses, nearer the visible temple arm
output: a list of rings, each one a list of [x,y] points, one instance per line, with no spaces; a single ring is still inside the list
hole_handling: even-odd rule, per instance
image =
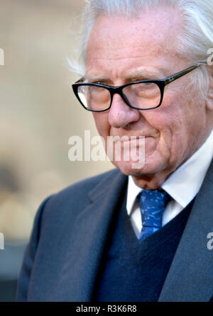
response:
[[[123,89],[123,94],[134,108],[148,109],[160,104],[160,88],[153,82],[131,84]]]

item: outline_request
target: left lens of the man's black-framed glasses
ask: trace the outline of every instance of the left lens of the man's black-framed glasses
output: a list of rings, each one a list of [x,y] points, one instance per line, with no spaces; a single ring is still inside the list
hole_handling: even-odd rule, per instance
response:
[[[107,110],[110,106],[111,96],[107,89],[101,86],[79,86],[77,94],[85,108],[92,111]]]

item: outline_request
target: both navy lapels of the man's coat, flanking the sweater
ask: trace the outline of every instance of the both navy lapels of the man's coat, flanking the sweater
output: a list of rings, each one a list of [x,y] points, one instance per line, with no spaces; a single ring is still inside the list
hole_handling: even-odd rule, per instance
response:
[[[110,171],[89,192],[91,204],[77,216],[55,300],[89,302],[116,209],[128,177]],[[190,218],[160,293],[159,301],[208,301],[212,298],[212,255],[207,234],[212,232],[213,163],[197,195]],[[85,225],[87,223],[87,225]],[[72,276],[70,275],[72,271]]]

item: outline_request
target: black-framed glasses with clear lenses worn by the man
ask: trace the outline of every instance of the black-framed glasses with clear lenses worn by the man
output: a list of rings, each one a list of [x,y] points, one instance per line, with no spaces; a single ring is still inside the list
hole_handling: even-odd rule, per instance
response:
[[[86,83],[84,82],[84,78],[82,78],[75,82],[75,84],[72,84],[72,89],[78,101],[80,101],[87,111],[108,111],[111,108],[114,94],[119,94],[131,108],[135,108],[136,110],[152,110],[161,105],[165,86],[192,72],[192,70],[201,64],[195,64],[165,79],[133,81],[122,86]]]

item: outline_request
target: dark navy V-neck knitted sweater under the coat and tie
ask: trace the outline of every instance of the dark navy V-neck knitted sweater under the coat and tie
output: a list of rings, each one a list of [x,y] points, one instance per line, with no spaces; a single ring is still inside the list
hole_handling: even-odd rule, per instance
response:
[[[93,301],[157,301],[192,204],[193,201],[158,232],[139,242],[126,213],[125,198],[109,234]]]

